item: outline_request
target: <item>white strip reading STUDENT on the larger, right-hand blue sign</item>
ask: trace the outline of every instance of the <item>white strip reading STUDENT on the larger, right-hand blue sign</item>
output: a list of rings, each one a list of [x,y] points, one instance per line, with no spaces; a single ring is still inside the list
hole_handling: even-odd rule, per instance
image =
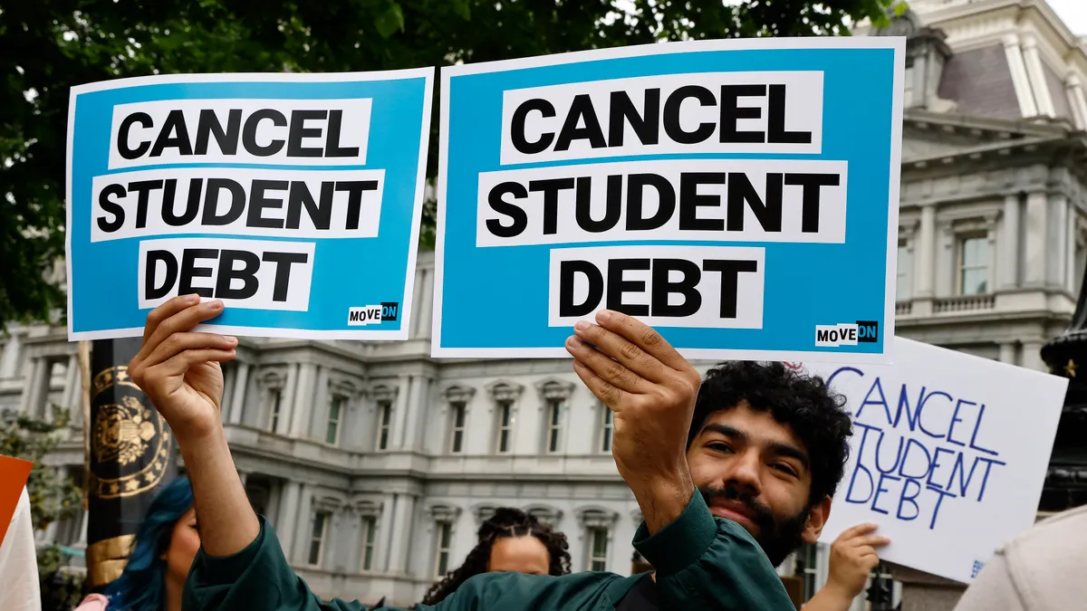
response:
[[[846,163],[675,160],[479,175],[476,246],[600,240],[842,244]]]

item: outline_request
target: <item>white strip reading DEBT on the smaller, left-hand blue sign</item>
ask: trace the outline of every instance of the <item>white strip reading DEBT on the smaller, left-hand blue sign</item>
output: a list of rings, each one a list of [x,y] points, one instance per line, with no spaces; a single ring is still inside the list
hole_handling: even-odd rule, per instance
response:
[[[307,311],[313,242],[170,238],[139,245],[139,307],[177,295],[221,299],[227,308]]]

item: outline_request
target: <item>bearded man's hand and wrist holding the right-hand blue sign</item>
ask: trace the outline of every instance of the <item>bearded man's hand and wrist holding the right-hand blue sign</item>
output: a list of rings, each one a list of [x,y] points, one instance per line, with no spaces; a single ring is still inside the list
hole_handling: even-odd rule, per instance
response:
[[[644,323],[608,310],[597,322],[574,325],[566,350],[578,377],[615,412],[612,456],[655,533],[695,494],[686,448],[702,378]]]

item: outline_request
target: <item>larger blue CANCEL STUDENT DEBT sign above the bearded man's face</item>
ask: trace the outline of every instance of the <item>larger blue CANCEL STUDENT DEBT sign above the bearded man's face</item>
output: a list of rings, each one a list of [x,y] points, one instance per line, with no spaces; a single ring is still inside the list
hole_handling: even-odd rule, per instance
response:
[[[886,362],[903,54],[716,40],[442,68],[434,356],[566,356],[608,308],[689,358]]]

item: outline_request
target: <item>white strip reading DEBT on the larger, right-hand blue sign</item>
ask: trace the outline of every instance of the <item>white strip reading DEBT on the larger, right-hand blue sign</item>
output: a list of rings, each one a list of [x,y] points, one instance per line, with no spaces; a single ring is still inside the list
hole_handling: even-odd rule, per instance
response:
[[[652,326],[761,328],[761,248],[616,246],[551,250],[548,324],[603,309]]]

